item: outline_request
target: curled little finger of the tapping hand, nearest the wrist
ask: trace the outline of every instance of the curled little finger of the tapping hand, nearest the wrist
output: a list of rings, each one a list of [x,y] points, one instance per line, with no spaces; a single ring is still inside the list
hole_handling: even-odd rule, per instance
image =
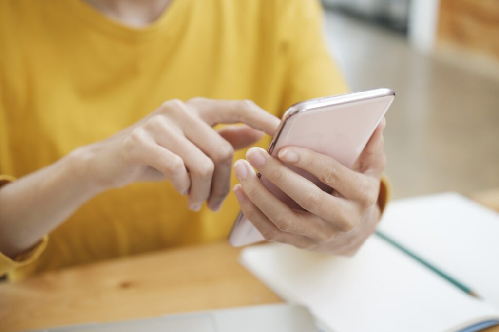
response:
[[[130,154],[143,165],[151,166],[163,173],[181,194],[187,194],[191,179],[182,158],[158,145],[149,135],[142,131],[133,131],[130,139]]]

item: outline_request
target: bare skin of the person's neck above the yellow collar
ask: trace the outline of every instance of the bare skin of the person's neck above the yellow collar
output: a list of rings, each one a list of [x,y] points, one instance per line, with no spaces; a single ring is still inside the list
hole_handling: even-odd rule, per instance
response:
[[[157,20],[172,0],[82,0],[107,17],[131,27],[144,27]]]

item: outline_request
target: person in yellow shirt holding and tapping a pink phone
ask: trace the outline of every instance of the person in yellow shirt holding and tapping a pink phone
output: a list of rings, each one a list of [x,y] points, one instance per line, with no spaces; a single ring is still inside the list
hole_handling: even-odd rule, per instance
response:
[[[347,91],[320,14],[312,0],[0,2],[0,274],[222,240],[240,206],[268,240],[353,254],[386,202],[384,121],[354,170],[280,152],[333,194],[248,151],[310,212],[246,161],[228,195],[233,159],[266,147],[289,105]]]

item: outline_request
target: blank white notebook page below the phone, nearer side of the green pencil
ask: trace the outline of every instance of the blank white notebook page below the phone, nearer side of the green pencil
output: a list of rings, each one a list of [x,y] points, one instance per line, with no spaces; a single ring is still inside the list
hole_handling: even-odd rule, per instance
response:
[[[244,249],[241,262],[331,331],[442,332],[499,318],[499,311],[377,237],[353,258],[267,244]]]

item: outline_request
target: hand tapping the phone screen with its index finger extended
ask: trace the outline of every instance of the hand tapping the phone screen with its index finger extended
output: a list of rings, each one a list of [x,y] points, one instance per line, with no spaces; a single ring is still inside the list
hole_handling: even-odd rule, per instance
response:
[[[245,125],[212,128],[232,123]],[[88,165],[99,191],[168,179],[189,195],[190,209],[198,211],[207,200],[217,211],[230,191],[234,150],[256,142],[262,132],[273,135],[278,125],[279,119],[251,101],[169,100],[109,139],[74,153]]]

